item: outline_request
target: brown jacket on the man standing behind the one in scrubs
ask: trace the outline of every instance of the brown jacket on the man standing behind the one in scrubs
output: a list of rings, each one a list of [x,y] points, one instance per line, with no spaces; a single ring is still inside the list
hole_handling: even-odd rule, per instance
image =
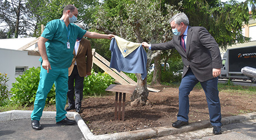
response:
[[[77,61],[77,69],[80,77],[86,76],[87,72],[91,72],[92,69],[92,49],[90,41],[82,38],[79,44],[77,55],[75,55],[72,64],[69,67],[69,76],[71,75],[73,68],[75,66],[75,61]]]

